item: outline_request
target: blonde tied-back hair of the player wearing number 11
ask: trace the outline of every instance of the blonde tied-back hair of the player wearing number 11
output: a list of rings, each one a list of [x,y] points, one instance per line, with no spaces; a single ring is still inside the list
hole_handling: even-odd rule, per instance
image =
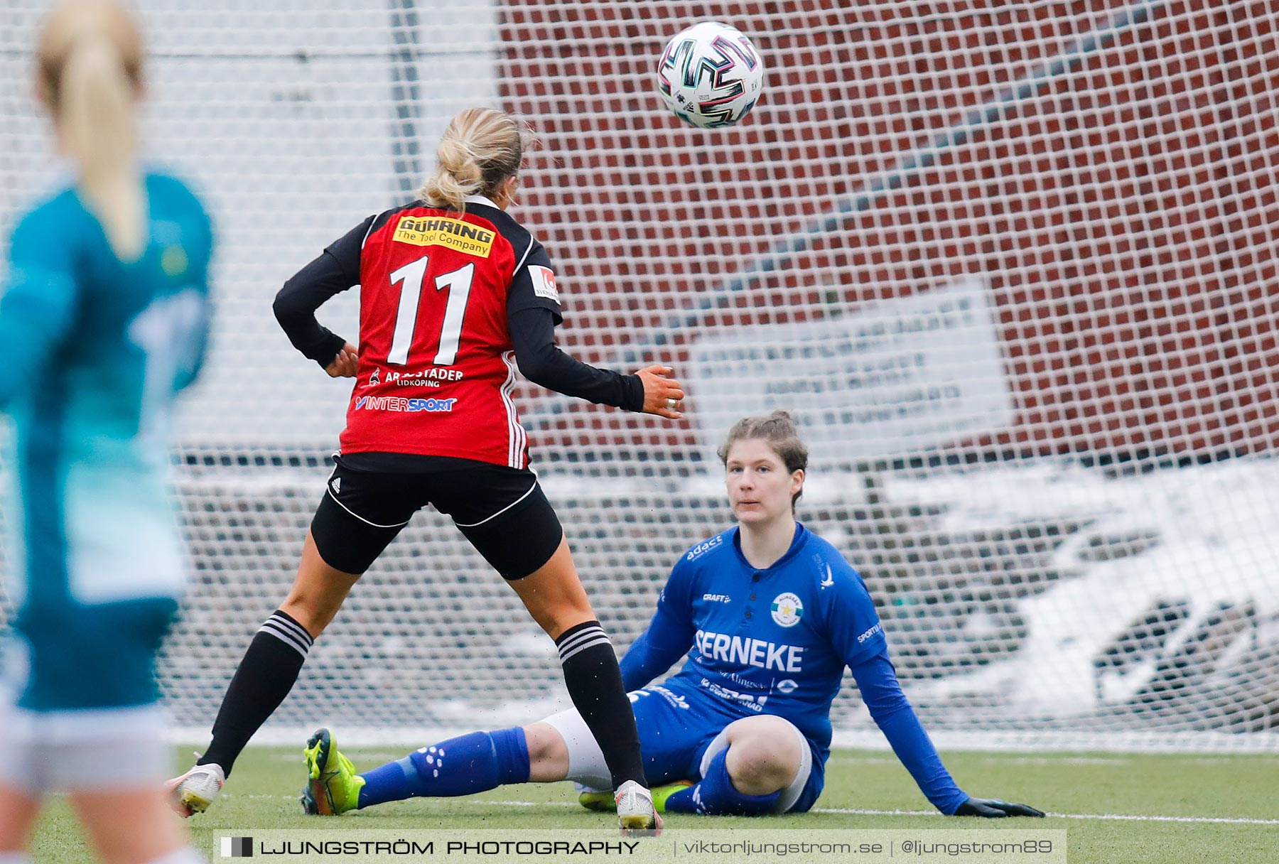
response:
[[[467,109],[444,130],[435,173],[417,194],[444,210],[466,210],[467,196],[492,198],[503,180],[519,173],[524,152],[536,143],[532,130],[509,114]]]

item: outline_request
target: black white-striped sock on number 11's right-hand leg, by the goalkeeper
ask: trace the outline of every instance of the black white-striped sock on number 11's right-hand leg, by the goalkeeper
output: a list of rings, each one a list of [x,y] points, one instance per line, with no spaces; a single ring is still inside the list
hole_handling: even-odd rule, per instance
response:
[[[599,621],[577,624],[555,640],[573,706],[604,752],[616,789],[628,780],[648,786],[640,757],[640,734],[613,643]]]

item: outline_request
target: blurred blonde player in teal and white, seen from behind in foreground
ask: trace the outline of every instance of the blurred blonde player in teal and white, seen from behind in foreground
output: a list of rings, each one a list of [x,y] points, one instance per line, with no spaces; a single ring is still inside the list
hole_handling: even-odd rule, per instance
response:
[[[0,681],[0,863],[65,791],[107,864],[203,860],[173,819],[155,656],[182,592],[168,415],[205,348],[208,219],[138,166],[142,46],[110,0],[47,19],[36,86],[74,179],[13,230],[0,409],[13,638]]]

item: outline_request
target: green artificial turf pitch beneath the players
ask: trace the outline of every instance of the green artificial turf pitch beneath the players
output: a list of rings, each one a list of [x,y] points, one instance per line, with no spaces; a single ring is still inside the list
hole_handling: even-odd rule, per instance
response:
[[[577,806],[569,783],[508,786],[468,798],[399,801],[338,818],[307,817],[297,803],[303,783],[301,749],[299,744],[292,749],[246,752],[215,805],[188,822],[206,855],[221,860],[217,844],[224,835],[261,835],[274,829],[303,829],[308,836],[310,832],[340,836],[363,828],[597,829],[600,836],[615,836],[615,829],[610,831],[613,817]],[[357,768],[366,769],[409,749],[344,752]],[[189,748],[183,755],[189,759]],[[828,764],[826,789],[811,813],[761,819],[671,814],[668,829],[767,828],[784,832],[780,837],[802,838],[813,831],[847,828],[929,832],[1042,828],[1067,832],[1071,864],[1279,861],[1279,757],[948,752],[944,758],[967,792],[1032,804],[1048,812],[1049,818],[946,818],[932,810],[891,753],[836,750]],[[1165,819],[1115,818],[1122,815]],[[38,864],[88,860],[64,801],[50,803],[32,851]],[[698,858],[682,860],[697,864]]]

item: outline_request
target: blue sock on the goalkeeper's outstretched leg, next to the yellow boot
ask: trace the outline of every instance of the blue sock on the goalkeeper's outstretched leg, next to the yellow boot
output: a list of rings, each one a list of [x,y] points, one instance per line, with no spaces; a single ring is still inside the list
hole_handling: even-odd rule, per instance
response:
[[[449,798],[528,782],[528,743],[521,727],[471,732],[365,772],[359,806],[405,798]]]

